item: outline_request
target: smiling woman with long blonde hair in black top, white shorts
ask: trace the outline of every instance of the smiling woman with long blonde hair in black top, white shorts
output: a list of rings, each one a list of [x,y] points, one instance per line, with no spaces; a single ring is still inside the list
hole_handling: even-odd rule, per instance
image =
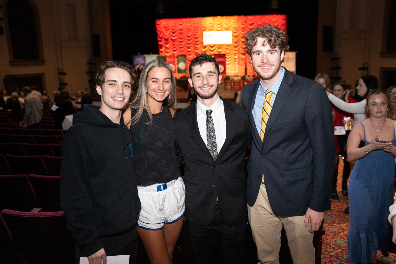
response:
[[[150,61],[124,112],[131,131],[142,204],[137,232],[152,264],[171,264],[183,226],[185,186],[175,156],[176,80],[165,61]]]

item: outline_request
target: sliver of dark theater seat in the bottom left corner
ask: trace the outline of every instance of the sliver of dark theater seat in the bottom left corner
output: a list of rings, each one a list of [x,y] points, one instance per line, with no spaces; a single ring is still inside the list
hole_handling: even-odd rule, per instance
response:
[[[19,249],[16,247],[11,232],[0,213],[0,260],[1,263],[25,264]]]

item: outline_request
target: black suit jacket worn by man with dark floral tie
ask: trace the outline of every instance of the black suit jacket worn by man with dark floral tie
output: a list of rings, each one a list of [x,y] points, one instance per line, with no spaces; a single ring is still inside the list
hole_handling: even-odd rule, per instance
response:
[[[176,114],[176,158],[185,162],[186,218],[194,224],[209,225],[215,213],[216,196],[228,226],[246,221],[245,154],[249,142],[249,118],[236,103],[223,100],[227,126],[225,142],[213,160],[202,140],[196,103]]]

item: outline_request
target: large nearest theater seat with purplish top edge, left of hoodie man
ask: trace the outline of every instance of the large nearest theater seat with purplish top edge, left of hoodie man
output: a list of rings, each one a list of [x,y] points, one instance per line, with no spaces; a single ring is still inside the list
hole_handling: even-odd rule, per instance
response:
[[[1,213],[26,263],[75,263],[75,242],[63,211]]]

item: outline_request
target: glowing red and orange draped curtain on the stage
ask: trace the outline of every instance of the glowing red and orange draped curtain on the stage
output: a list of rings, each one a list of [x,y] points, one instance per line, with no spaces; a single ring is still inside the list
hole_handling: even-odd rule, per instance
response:
[[[269,23],[286,30],[286,15],[247,15],[157,19],[158,49],[161,55],[186,55],[187,64],[200,53],[226,54],[227,75],[255,74],[245,53],[245,34],[250,28]],[[204,31],[232,30],[232,44],[204,45]]]

